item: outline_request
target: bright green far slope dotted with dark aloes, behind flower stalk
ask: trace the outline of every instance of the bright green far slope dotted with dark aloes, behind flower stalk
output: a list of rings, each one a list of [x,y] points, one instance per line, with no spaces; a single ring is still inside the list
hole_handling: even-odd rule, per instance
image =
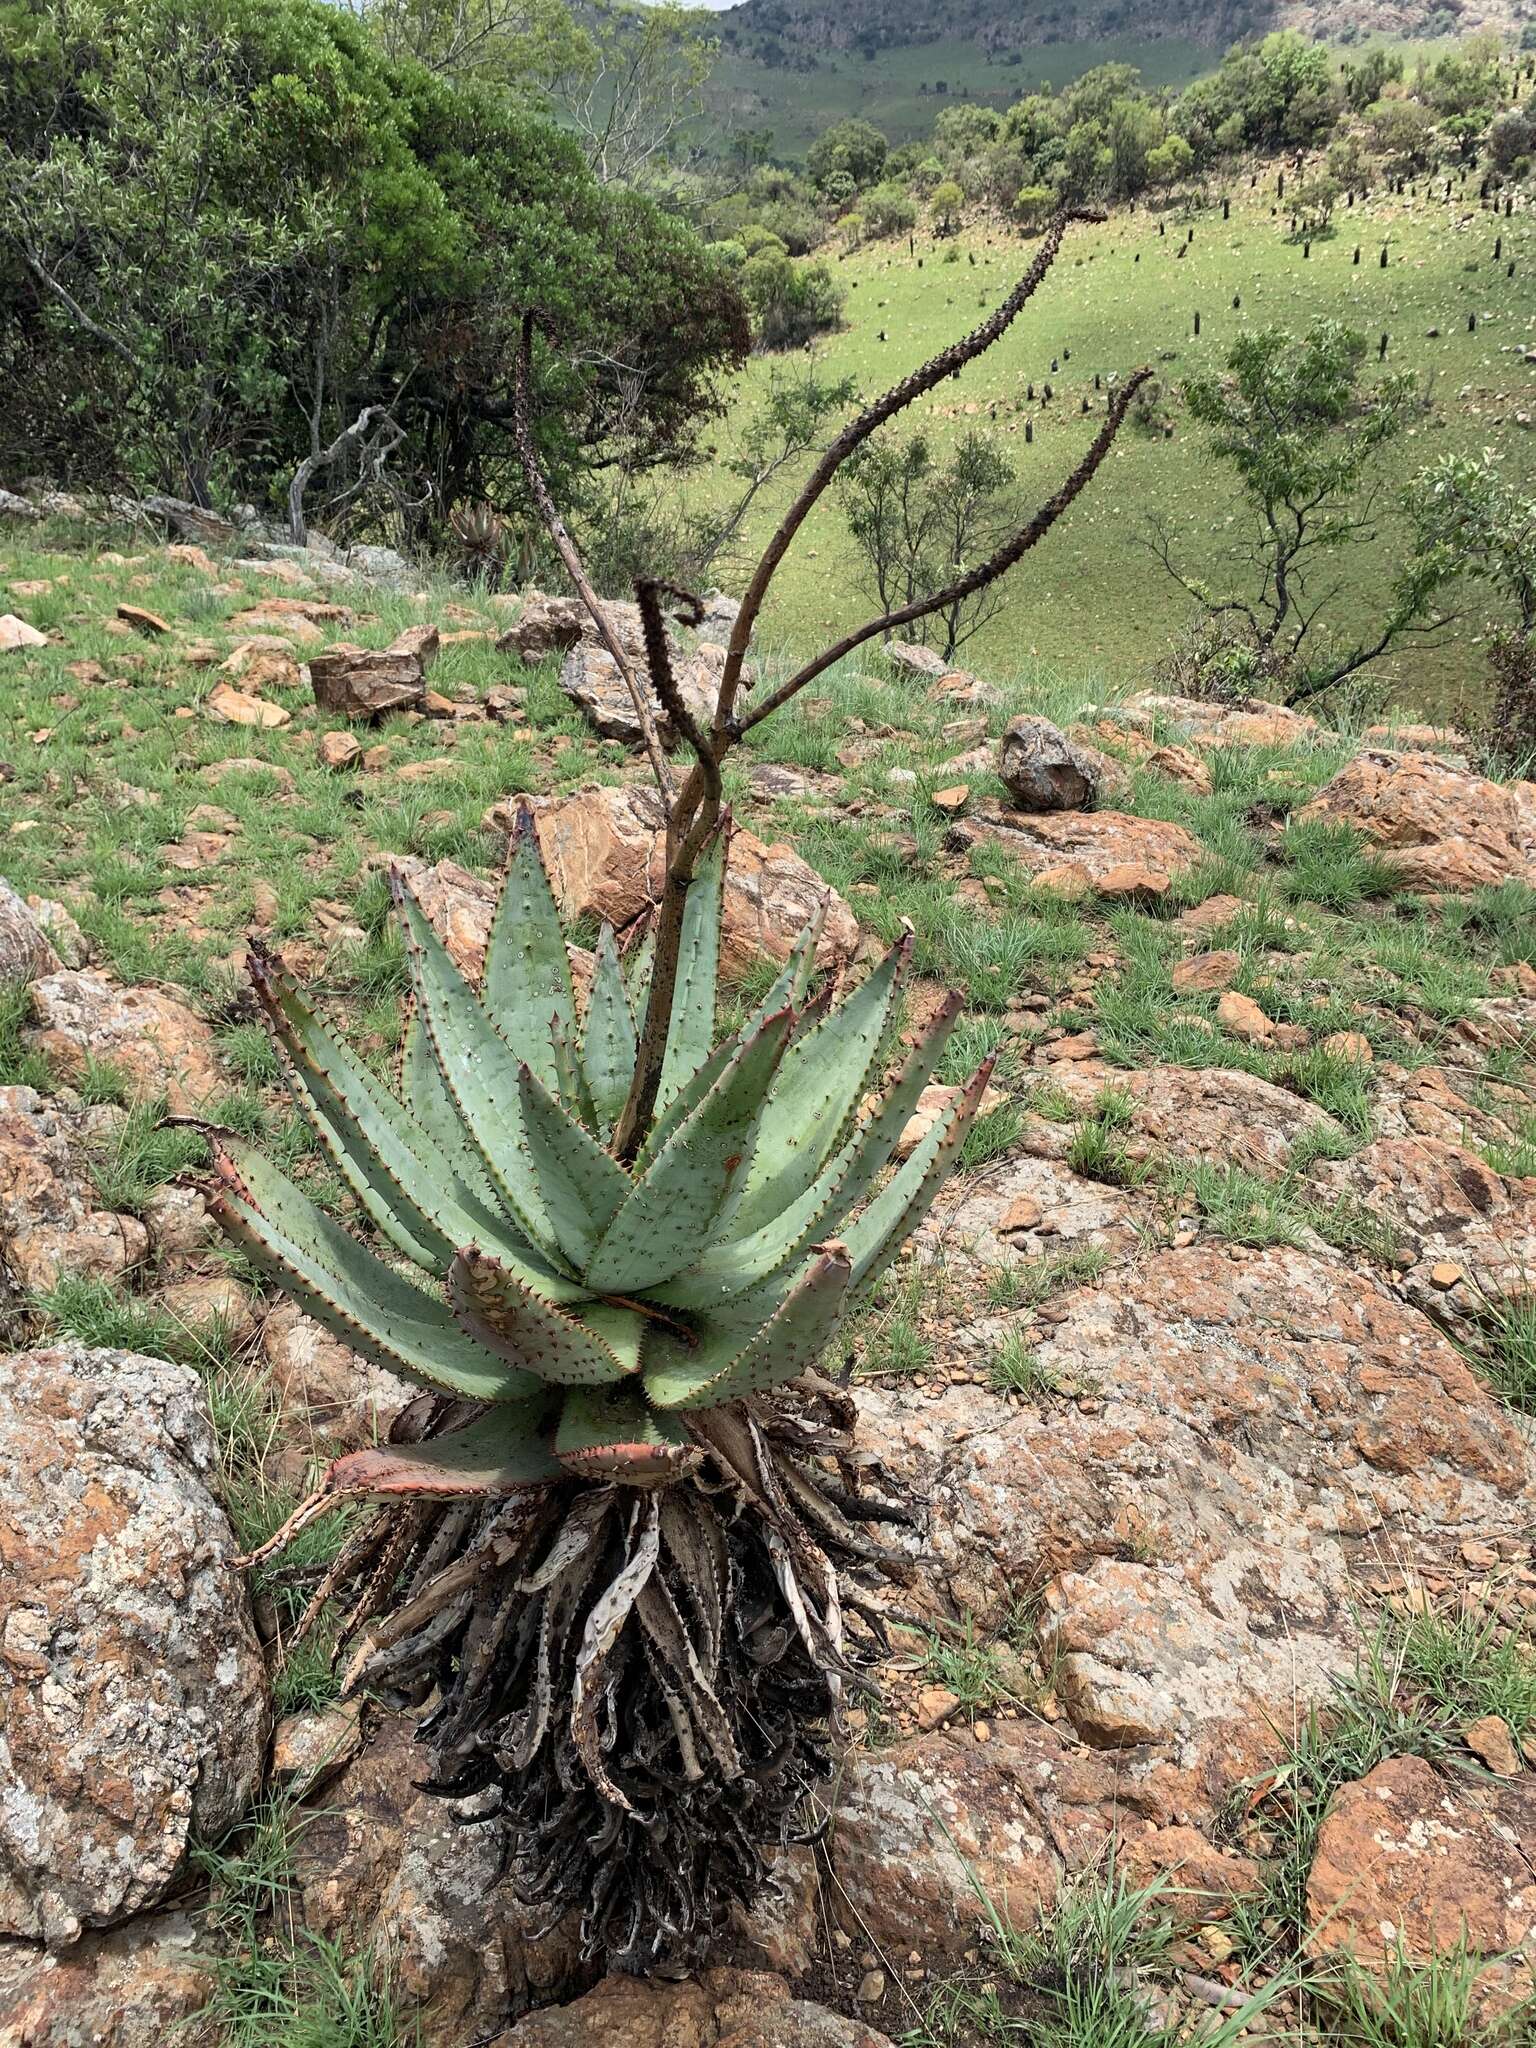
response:
[[[1444,193],[1444,182],[1436,188]],[[915,408],[913,426],[950,438],[967,426],[995,426],[1022,477],[1026,502],[1055,487],[1073,465],[1096,422],[1081,418],[1094,393],[1094,373],[1128,371],[1153,362],[1165,379],[1219,365],[1233,336],[1253,326],[1305,328],[1317,317],[1343,317],[1372,338],[1393,336],[1391,362],[1413,369],[1434,397],[1434,412],[1393,455],[1399,477],[1444,449],[1501,446],[1518,475],[1536,471],[1536,436],[1513,422],[1532,401],[1532,373],[1520,358],[1536,344],[1536,229],[1530,215],[1497,223],[1477,207],[1477,182],[1456,203],[1376,197],[1339,213],[1333,240],[1313,244],[1311,260],[1284,240],[1286,221],[1272,219],[1274,174],[1251,193],[1241,180],[1233,217],[1223,223],[1221,197],[1188,213],[1120,213],[1104,227],[1077,229],[1055,274],[1020,315],[1010,334],[981,362]],[[1470,197],[1468,197],[1470,195]],[[1159,236],[1159,219],[1167,233]],[[1178,248],[1186,227],[1194,244]],[[1503,258],[1516,258],[1516,276],[1493,262],[1493,240],[1503,236]],[[1354,268],[1356,242],[1364,244]],[[1378,268],[1389,246],[1391,264]],[[958,248],[958,262],[946,262]],[[821,348],[829,375],[854,375],[860,389],[877,391],[903,377],[944,342],[965,332],[995,305],[1030,258],[1030,244],[995,227],[977,229],[956,244],[920,238],[918,268],[903,244],[879,244],[836,264],[848,287],[846,326]],[[1141,260],[1137,262],[1137,256]],[[971,262],[975,258],[975,266]],[[836,258],[834,258],[836,262]],[[1233,297],[1241,293],[1241,309]],[[1202,313],[1202,336],[1192,338],[1192,317]],[[1466,332],[1477,313],[1477,334]],[[1438,328],[1436,340],[1427,330]],[[881,332],[889,334],[881,342]],[[1071,350],[1071,360],[1061,350]],[[1053,356],[1061,373],[1051,375]],[[733,422],[770,375],[770,360],[750,365],[723,424],[729,444]],[[1051,379],[1055,403],[1030,408],[1026,389]],[[1024,422],[1034,416],[1034,444],[1024,444]],[[758,508],[748,541],[762,539],[784,494]],[[1151,512],[1161,512],[1186,537],[1188,555],[1208,565],[1223,545],[1233,498],[1212,471],[1200,436],[1180,428],[1171,442],[1126,430],[1092,498],[1067,528],[1020,571],[1006,612],[971,643],[973,668],[1014,670],[1038,655],[1081,676],[1110,672],[1135,678],[1178,633],[1186,600],[1157,563],[1137,545]],[[1348,594],[1333,616],[1348,629],[1393,573],[1386,541],[1364,549],[1348,575]],[[842,520],[825,504],[803,535],[780,578],[770,633],[791,643],[846,625],[846,594],[858,565]],[[729,578],[727,578],[729,582]],[[1415,651],[1384,670],[1397,696],[1415,707],[1454,709],[1464,692],[1481,686],[1481,655],[1470,647],[1475,629],[1440,653]]]

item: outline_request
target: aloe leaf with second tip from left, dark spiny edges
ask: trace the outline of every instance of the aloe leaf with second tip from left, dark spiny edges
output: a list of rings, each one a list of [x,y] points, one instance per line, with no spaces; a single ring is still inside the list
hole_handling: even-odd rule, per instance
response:
[[[287,975],[252,954],[250,979],[289,1061],[299,1108],[348,1186],[406,1257],[446,1272],[455,1247],[498,1233],[412,1112],[315,1016]]]

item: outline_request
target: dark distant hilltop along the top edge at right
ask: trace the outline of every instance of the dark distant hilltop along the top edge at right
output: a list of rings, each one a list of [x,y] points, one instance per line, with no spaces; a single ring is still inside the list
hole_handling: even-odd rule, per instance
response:
[[[973,41],[993,57],[1053,43],[1171,37],[1223,49],[1266,29],[1337,41],[1442,37],[1536,23],[1536,0],[743,0],[719,16],[727,47],[797,68],[831,53],[877,57]]]

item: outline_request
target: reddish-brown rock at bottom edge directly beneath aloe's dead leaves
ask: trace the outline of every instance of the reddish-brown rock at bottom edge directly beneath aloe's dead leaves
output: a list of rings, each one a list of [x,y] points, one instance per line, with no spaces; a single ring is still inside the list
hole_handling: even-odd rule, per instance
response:
[[[705,1970],[682,1985],[606,1976],[573,2005],[530,2013],[502,2048],[891,2048],[891,2040],[797,1999],[782,1976]]]

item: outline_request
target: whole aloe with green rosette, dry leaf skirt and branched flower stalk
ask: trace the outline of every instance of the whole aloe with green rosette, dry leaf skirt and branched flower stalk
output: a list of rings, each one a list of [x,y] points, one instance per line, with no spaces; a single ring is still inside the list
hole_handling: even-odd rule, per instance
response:
[[[209,1133],[211,1208],[326,1329],[422,1389],[260,1556],[340,1501],[379,1503],[311,1585],[297,1640],[336,1620],[346,1683],[422,1712],[428,1782],[506,1829],[537,1923],[575,1917],[606,1964],[696,1958],[756,1898],[829,1769],[848,1686],[887,1642],[909,1565],[877,1530],[909,1509],[817,1362],[954,1169],[991,1071],[897,1161],[961,997],[901,1030],[907,938],[836,1001],[817,987],[825,909],[717,1042],[721,762],[840,651],[743,719],[752,621],[838,465],[991,346],[1065,225],[975,336],[821,459],[754,578],[709,729],[666,633],[666,606],[696,621],[696,600],[639,584],[649,684],[694,762],[670,801],[651,932],[621,958],[604,928],[584,997],[526,807],[479,985],[393,885],[414,995],[393,1087],[252,952],[293,1098],[385,1249],[225,1130]],[[1051,530],[1137,383],[967,586]],[[537,477],[528,350],[520,385]],[[541,479],[535,500],[553,514]],[[600,610],[586,575],[578,588]]]

